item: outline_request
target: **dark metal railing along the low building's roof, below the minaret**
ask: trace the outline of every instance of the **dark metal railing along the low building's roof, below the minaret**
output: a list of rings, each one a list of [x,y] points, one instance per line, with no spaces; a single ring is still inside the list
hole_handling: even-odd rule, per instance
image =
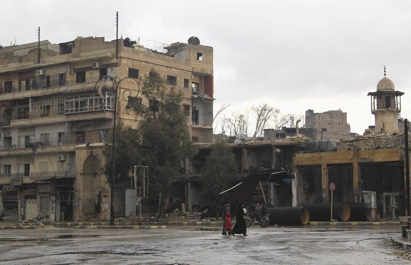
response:
[[[305,153],[334,152],[358,149],[395,148],[404,144],[404,134],[396,137],[375,137],[346,141],[317,141],[304,144]]]

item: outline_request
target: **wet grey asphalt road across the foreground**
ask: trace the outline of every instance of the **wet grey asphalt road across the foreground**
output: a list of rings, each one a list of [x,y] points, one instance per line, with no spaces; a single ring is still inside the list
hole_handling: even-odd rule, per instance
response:
[[[0,230],[0,264],[410,264],[388,246],[398,227]]]

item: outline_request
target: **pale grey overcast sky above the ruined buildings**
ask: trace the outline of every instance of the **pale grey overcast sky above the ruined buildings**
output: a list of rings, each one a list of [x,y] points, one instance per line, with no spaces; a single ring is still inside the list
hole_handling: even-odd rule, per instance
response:
[[[341,109],[351,131],[374,125],[367,93],[383,77],[411,118],[410,1],[21,1],[2,0],[0,43],[62,43],[77,36],[187,42],[214,47],[217,110],[267,103],[303,115]],[[158,45],[157,43],[157,45]],[[251,117],[250,117],[251,118]],[[252,125],[251,125],[252,127]]]

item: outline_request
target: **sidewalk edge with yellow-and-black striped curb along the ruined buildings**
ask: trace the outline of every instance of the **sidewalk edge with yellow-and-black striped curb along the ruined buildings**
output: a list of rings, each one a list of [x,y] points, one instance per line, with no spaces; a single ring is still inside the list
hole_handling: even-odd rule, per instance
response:
[[[110,226],[109,222],[54,222],[54,223],[23,223],[23,222],[0,222],[2,229],[36,229],[36,228],[78,228],[78,229],[165,229],[175,226],[206,226],[222,227],[222,221],[181,221],[181,222],[115,222]],[[400,226],[399,221],[380,222],[309,222],[308,226]]]

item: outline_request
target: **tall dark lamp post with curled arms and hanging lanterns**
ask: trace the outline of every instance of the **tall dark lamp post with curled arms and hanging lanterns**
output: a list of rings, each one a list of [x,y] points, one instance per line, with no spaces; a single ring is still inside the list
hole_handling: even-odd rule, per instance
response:
[[[96,85],[94,86],[94,89],[97,92],[97,95],[99,96],[99,98],[102,99],[102,103],[103,103],[103,111],[105,112],[107,109],[107,100],[108,98],[111,97],[111,92],[113,91],[113,87],[108,88],[107,86],[105,86],[103,88],[103,86],[98,86],[98,84],[105,80],[106,83],[107,81],[111,81],[114,84],[114,89],[115,89],[115,95],[114,95],[114,117],[113,117],[113,143],[111,144],[111,167],[112,167],[112,172],[111,172],[111,184],[110,184],[110,226],[114,226],[114,180],[115,180],[115,176],[116,176],[116,164],[115,164],[115,154],[116,154],[116,116],[117,116],[117,92],[118,92],[118,87],[120,85],[120,83],[125,80],[125,79],[132,79],[136,82],[137,84],[137,94],[133,97],[131,97],[132,91],[129,89],[125,89],[125,91],[123,92],[123,99],[127,101],[127,106],[126,106],[126,112],[127,114],[130,113],[130,109],[132,108],[130,106],[130,101],[132,101],[133,99],[137,98],[139,92],[140,92],[140,85],[138,84],[138,81],[136,79],[134,79],[133,77],[124,77],[124,78],[120,78],[120,77],[111,77],[111,76],[102,76],[100,77],[97,82]],[[124,98],[124,94],[128,93],[127,99]]]

